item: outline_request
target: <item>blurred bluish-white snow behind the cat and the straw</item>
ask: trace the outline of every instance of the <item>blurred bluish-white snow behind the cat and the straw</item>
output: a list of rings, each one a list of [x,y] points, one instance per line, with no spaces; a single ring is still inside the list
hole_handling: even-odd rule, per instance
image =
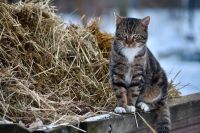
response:
[[[186,10],[145,9],[130,10],[128,16],[142,18],[151,16],[148,47],[160,61],[169,80],[181,71],[175,83],[186,85],[182,95],[200,92],[200,10],[194,14],[193,28],[188,25]],[[80,24],[74,15],[63,15],[64,21]],[[101,29],[114,34],[114,15],[102,16]],[[194,38],[191,38],[194,35]],[[197,59],[197,60],[196,60]],[[179,86],[181,88],[181,86]]]

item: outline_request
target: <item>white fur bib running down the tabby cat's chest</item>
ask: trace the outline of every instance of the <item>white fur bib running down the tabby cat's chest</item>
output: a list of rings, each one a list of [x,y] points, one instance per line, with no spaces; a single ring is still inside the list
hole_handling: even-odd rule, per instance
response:
[[[131,64],[134,62],[135,56],[139,53],[142,48],[124,48],[122,50],[123,55],[128,59],[128,63]],[[125,74],[126,86],[131,83],[132,80],[132,68],[129,66],[127,73]]]

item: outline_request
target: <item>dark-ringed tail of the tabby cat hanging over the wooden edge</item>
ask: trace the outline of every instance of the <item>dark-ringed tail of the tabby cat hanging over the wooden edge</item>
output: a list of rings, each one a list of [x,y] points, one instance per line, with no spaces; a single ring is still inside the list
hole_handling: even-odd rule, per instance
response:
[[[171,119],[167,103],[164,103],[156,111],[156,128],[157,133],[170,133]]]

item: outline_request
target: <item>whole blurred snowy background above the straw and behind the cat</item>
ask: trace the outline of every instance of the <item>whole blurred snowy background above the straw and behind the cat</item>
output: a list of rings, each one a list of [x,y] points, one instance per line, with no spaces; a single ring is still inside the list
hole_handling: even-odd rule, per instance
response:
[[[169,80],[174,80],[182,95],[200,92],[199,0],[54,0],[52,5],[67,24],[85,25],[91,18],[101,17],[101,30],[113,35],[114,12],[150,16],[147,45]]]

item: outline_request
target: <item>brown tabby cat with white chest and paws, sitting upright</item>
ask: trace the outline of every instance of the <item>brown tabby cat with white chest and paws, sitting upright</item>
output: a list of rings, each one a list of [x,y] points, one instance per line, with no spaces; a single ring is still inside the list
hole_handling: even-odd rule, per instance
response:
[[[155,111],[158,133],[171,129],[167,105],[168,82],[164,70],[147,48],[150,17],[126,18],[116,15],[116,33],[112,44],[110,81],[117,98],[116,113]]]

